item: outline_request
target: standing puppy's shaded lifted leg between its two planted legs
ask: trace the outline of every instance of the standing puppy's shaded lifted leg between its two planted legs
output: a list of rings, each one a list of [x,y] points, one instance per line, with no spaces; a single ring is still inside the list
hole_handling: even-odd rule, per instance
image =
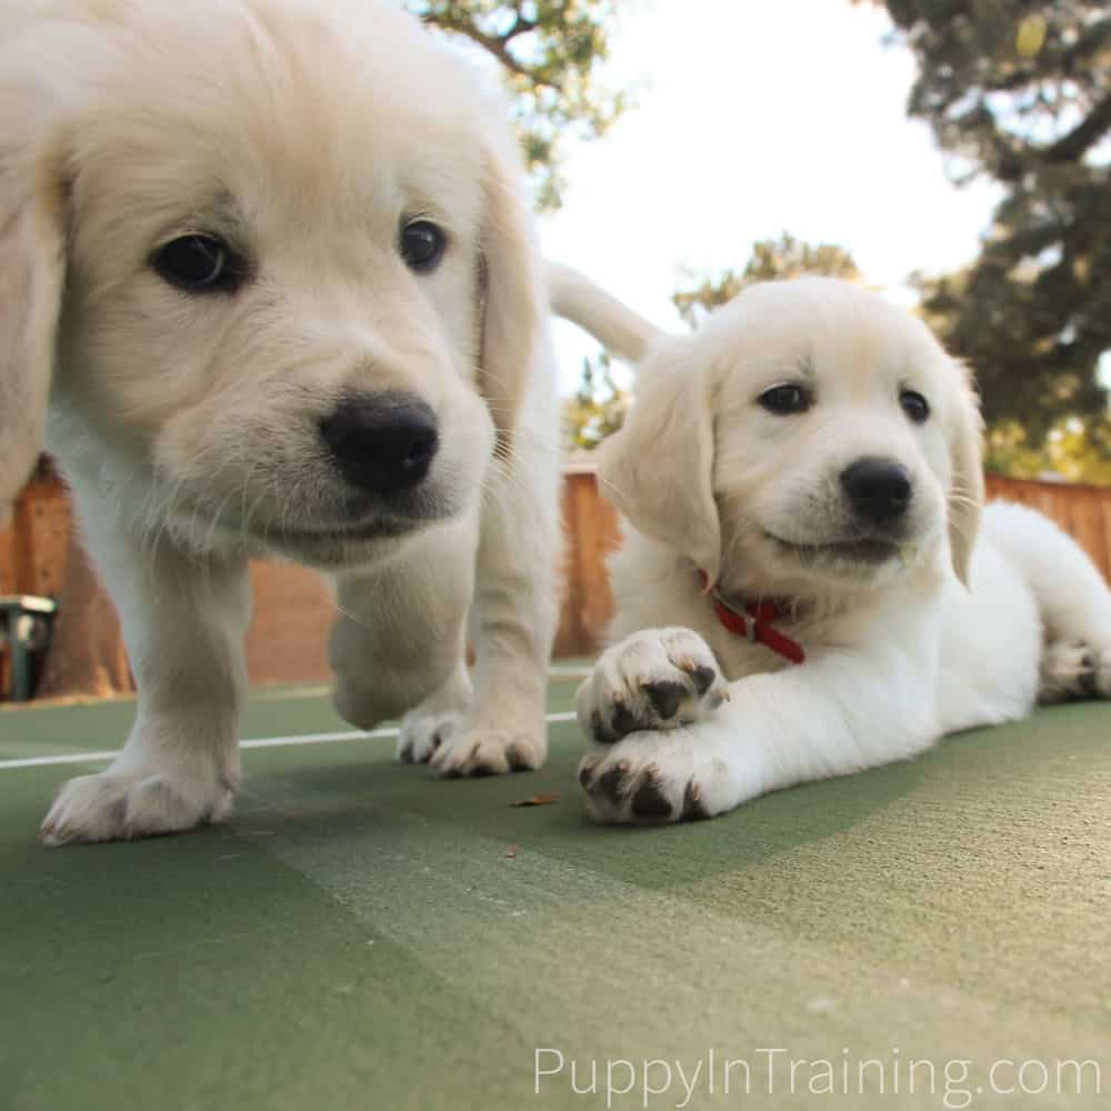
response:
[[[413,707],[419,717],[467,709],[477,544],[477,519],[460,518],[409,541],[382,567],[337,578],[339,617],[329,657],[342,718],[370,729]],[[404,758],[403,750],[399,754]]]

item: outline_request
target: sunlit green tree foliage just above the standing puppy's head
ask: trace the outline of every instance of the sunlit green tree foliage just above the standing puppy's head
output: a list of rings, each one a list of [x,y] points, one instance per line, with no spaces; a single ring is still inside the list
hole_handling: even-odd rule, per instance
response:
[[[513,94],[537,206],[558,208],[559,146],[569,136],[597,138],[627,107],[602,88],[598,68],[609,52],[607,26],[615,0],[404,0],[441,31],[469,40],[498,62]]]

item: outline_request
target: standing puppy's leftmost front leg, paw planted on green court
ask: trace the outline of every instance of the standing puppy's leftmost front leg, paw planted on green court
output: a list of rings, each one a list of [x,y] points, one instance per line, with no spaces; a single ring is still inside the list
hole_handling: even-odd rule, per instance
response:
[[[140,548],[122,528],[86,526],[120,611],[139,707],[111,767],[62,788],[42,840],[110,841],[220,821],[239,784],[246,562],[198,562],[164,541]]]

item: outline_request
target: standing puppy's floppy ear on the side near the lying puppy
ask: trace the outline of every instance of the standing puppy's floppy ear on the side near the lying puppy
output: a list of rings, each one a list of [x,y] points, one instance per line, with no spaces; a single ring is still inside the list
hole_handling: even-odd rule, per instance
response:
[[[501,151],[487,151],[478,387],[498,430],[499,454],[508,454],[512,446],[517,412],[534,359],[541,304],[547,300],[517,177],[511,158]]]

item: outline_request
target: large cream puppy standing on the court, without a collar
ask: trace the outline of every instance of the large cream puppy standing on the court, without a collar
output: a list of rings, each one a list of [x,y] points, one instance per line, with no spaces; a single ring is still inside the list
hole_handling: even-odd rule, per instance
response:
[[[228,813],[261,553],[337,577],[347,719],[417,707],[401,755],[440,774],[541,763],[557,433],[518,169],[390,3],[0,9],[0,504],[49,398],[139,687],[49,843]]]

